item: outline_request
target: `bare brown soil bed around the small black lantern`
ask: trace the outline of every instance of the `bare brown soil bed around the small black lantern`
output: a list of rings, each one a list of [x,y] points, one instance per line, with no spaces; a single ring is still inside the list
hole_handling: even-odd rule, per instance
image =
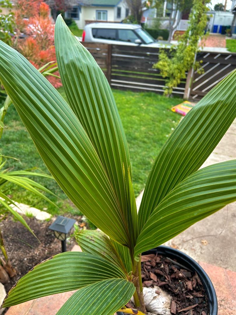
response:
[[[67,216],[71,217],[71,215]],[[79,224],[85,225],[81,221],[81,216],[73,218]],[[6,292],[36,264],[61,253],[61,242],[55,238],[52,231],[48,230],[48,226],[52,224],[52,221],[39,221],[25,216],[24,219],[41,243],[20,222],[14,221],[12,218],[7,218],[0,223],[8,257],[17,272],[16,276],[4,284]],[[73,231],[71,230],[71,232]],[[74,238],[71,238],[70,243],[67,243],[67,251],[70,251],[74,244]]]

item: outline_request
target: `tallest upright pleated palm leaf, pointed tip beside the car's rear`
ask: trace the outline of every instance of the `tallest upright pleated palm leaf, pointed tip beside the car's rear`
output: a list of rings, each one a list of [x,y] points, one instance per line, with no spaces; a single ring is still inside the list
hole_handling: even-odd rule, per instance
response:
[[[127,204],[125,182],[128,176],[132,178],[129,150],[109,83],[93,56],[70,32],[61,15],[55,26],[55,48],[69,105],[98,153],[115,190],[126,228],[128,231],[133,229],[129,235],[134,244],[137,210],[136,205],[134,209]]]

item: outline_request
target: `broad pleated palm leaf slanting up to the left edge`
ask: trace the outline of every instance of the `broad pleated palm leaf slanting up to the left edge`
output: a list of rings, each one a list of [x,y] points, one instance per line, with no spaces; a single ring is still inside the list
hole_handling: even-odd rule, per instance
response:
[[[117,196],[74,112],[30,62],[3,42],[0,60],[0,79],[53,177],[89,220],[117,242],[130,244]]]

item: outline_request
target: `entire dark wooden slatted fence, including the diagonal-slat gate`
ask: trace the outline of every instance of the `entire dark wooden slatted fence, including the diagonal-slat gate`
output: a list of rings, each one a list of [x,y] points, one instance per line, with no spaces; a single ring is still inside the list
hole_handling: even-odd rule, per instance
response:
[[[153,65],[159,49],[126,45],[83,43],[103,70],[110,86],[115,89],[163,93],[166,80]],[[236,54],[201,52],[204,73],[189,71],[187,79],[173,89],[173,95],[199,100],[236,66]],[[191,86],[190,86],[191,84]]]

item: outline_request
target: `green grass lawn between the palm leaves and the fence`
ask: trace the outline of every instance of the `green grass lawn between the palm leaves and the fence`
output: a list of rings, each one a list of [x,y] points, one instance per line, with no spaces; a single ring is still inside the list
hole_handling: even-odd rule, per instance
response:
[[[63,88],[59,89],[63,97]],[[171,107],[181,102],[181,99],[166,98],[154,93],[135,93],[130,91],[113,90],[121,120],[126,132],[129,145],[133,185],[136,196],[144,188],[149,170],[161,146],[170,135],[181,116],[171,111]],[[17,157],[20,161],[8,160],[9,167],[26,169],[37,166],[43,172],[47,169],[39,156],[28,132],[14,108],[11,106],[6,115],[6,128],[1,139],[1,151],[4,155]],[[9,186],[8,194],[13,200],[37,207],[48,208],[51,214],[72,212],[80,214],[59,188],[54,180],[35,178],[41,184],[59,196],[59,199],[50,197],[57,203],[60,210],[45,201],[14,186]]]

